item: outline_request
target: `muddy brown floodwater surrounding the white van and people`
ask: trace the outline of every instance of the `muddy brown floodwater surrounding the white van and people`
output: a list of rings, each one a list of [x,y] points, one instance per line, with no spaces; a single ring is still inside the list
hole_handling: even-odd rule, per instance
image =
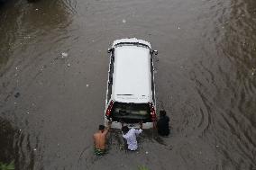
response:
[[[106,49],[127,37],[159,50],[157,111],[171,133],[146,131],[128,152],[111,131],[96,157]],[[16,170],[256,170],[256,1],[5,1],[0,151]]]

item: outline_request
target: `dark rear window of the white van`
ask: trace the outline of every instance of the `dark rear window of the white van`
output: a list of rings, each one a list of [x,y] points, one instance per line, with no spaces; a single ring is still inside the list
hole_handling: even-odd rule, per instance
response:
[[[111,117],[113,121],[151,121],[151,108],[148,103],[114,103]]]

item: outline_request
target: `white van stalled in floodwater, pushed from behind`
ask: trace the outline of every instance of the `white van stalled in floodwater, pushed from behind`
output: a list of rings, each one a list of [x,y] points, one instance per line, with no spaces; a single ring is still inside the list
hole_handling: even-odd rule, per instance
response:
[[[156,121],[156,97],[151,49],[145,40],[114,40],[110,53],[105,100],[105,125],[121,129],[120,121],[129,128],[151,129]]]

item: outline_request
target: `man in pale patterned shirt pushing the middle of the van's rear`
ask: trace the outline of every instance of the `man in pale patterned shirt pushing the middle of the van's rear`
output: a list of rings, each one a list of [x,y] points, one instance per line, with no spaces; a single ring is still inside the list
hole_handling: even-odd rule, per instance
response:
[[[137,150],[138,148],[138,143],[137,143],[137,135],[142,133],[142,121],[140,122],[140,130],[135,130],[132,128],[129,130],[127,126],[123,126],[122,122],[122,133],[123,133],[123,139],[126,139],[128,149],[129,150]]]

